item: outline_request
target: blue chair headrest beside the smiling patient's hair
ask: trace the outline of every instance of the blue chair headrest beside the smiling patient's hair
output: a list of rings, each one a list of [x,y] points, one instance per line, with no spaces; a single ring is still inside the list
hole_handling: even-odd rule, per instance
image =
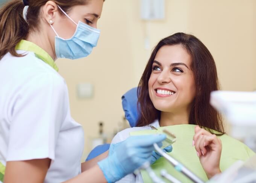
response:
[[[122,106],[125,118],[129,121],[131,127],[135,127],[138,122],[139,113],[137,102],[137,87],[130,89],[122,96]]]

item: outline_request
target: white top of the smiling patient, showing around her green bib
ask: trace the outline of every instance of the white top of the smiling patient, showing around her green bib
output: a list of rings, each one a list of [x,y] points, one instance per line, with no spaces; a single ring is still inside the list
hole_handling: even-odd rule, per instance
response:
[[[154,126],[156,128],[160,127],[158,120],[155,120],[150,125]],[[135,132],[135,131],[140,131],[140,130],[152,130],[152,129],[149,126],[133,127],[133,128],[124,129],[121,132],[118,132],[117,135],[115,135],[111,144],[116,144],[118,142],[124,141],[130,136],[130,132]],[[117,181],[117,183],[144,183],[144,181],[142,179],[141,173],[139,173],[138,175],[135,175],[135,174],[126,175],[124,178]]]

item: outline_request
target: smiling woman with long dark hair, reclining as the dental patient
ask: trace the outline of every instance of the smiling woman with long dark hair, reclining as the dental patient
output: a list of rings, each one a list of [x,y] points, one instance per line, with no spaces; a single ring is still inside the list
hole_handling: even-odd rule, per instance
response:
[[[211,178],[221,172],[222,144],[217,136],[225,133],[221,116],[209,104],[211,91],[218,89],[214,59],[199,39],[185,33],[162,39],[153,50],[139,82],[141,115],[137,127],[119,132],[112,143],[125,140],[130,132],[151,129],[148,124],[156,128],[197,125],[191,145],[207,177]],[[141,174],[130,174],[119,182],[143,180]]]

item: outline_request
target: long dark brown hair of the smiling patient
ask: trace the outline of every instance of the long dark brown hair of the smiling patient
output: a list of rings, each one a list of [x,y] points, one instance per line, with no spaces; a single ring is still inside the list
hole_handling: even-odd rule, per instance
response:
[[[164,45],[182,45],[190,54],[191,70],[195,79],[195,98],[189,115],[189,124],[196,124],[204,129],[213,129],[224,133],[223,120],[220,114],[210,105],[210,93],[220,89],[217,69],[210,51],[195,36],[185,33],[175,33],[162,39],[154,48],[150,59],[139,81],[138,104],[141,114],[137,126],[145,126],[155,119],[161,118],[161,111],[157,110],[148,94],[148,80],[151,75],[156,53]],[[212,130],[210,132],[214,133]],[[218,134],[217,134],[218,135]]]

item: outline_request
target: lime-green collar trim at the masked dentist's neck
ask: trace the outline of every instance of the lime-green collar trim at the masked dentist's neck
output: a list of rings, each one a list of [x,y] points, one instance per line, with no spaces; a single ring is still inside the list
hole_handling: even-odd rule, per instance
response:
[[[59,71],[59,68],[55,64],[52,57],[44,51],[42,48],[40,48],[38,45],[34,44],[33,42],[26,41],[22,39],[15,47],[16,50],[24,50],[24,51],[32,51],[35,53],[36,57],[43,60],[45,63],[49,64],[52,68],[54,68],[57,72]]]

